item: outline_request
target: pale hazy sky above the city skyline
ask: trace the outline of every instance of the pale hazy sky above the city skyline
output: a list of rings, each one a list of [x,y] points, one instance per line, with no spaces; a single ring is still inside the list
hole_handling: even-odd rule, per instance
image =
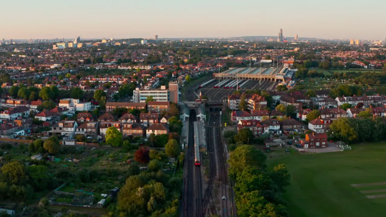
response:
[[[283,35],[384,40],[386,0],[4,0],[0,38]]]

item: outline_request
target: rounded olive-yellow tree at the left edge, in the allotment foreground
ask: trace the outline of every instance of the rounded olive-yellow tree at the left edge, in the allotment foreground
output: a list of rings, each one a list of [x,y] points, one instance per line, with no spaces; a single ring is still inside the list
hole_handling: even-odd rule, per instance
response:
[[[4,164],[1,168],[2,177],[10,184],[19,185],[27,179],[24,165],[19,161]]]

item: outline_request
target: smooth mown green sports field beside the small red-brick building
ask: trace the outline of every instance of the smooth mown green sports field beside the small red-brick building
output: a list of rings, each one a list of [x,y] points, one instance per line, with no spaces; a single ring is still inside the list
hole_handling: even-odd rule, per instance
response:
[[[386,189],[386,144],[353,145],[352,151],[320,154],[273,153],[272,168],[285,163],[291,185],[284,198],[291,216],[384,216],[386,198],[367,198]],[[378,183],[385,182],[385,183]],[[371,183],[364,186],[352,184]],[[376,193],[361,192],[379,190]]]

